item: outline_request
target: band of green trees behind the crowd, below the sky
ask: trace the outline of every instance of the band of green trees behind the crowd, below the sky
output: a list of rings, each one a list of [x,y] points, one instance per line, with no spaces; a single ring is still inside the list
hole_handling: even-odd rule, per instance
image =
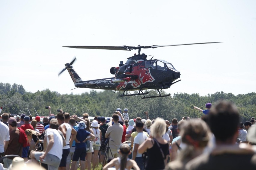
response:
[[[158,95],[156,90],[148,91],[150,96]],[[141,99],[141,96],[119,97],[122,93],[113,93],[109,90],[101,92],[91,90],[81,95],[74,95],[59,94],[49,89],[32,93],[26,92],[22,85],[0,83],[0,105],[3,107],[2,113],[21,113],[22,111],[22,113],[29,115],[27,110],[29,108],[32,116],[36,116],[35,110],[39,116],[47,116],[48,109],[45,109],[45,106],[51,106],[53,114],[57,114],[57,109],[62,109],[78,116],[88,113],[90,116],[105,117],[111,117],[113,110],[117,108],[121,108],[121,110],[127,108],[130,119],[138,116],[145,119],[144,111],[148,111],[150,119],[161,117],[171,121],[173,118],[180,120],[184,116],[200,118],[203,113],[193,109],[193,106],[205,109],[205,104],[208,102],[214,105],[219,100],[227,100],[238,107],[241,122],[256,117],[255,92],[233,95],[221,91],[205,96],[200,96],[198,93],[180,92],[169,97],[148,99]],[[162,95],[166,95],[166,93],[163,91]]]

